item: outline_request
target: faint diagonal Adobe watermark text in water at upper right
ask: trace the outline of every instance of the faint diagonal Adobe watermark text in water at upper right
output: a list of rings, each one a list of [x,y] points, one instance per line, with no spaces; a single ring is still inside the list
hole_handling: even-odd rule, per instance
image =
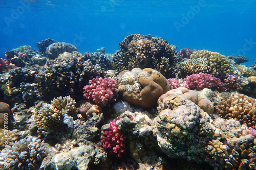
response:
[[[198,5],[195,5],[195,6],[190,5],[189,8],[191,10],[188,11],[186,15],[183,13],[181,14],[182,16],[181,22],[177,22],[177,21],[174,22],[174,26],[178,31],[178,33],[180,32],[180,29],[184,28],[190,22],[191,19],[195,18],[196,14],[198,14],[201,11],[201,8],[205,6],[206,4],[204,0],[199,0]]]

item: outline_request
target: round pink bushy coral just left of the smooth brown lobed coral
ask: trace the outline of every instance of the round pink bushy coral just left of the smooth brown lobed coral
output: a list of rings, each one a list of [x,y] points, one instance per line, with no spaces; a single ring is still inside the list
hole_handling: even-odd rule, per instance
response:
[[[105,107],[112,101],[116,85],[115,80],[111,78],[96,77],[89,81],[89,85],[83,87],[83,96]]]

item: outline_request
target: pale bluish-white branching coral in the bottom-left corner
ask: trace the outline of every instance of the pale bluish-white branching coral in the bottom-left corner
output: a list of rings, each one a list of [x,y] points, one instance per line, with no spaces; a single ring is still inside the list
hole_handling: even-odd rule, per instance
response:
[[[47,155],[46,144],[36,137],[29,136],[11,142],[0,154],[2,169],[38,169]]]

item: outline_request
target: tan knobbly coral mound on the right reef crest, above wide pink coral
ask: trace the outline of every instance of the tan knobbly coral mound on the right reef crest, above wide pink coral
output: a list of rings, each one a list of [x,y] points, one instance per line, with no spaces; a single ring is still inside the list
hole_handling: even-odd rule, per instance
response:
[[[224,78],[226,73],[234,75],[236,73],[236,67],[234,67],[234,61],[228,59],[226,56],[220,53],[210,52],[208,50],[201,50],[193,52],[190,56],[191,59],[205,58],[208,62],[209,74],[218,78]]]

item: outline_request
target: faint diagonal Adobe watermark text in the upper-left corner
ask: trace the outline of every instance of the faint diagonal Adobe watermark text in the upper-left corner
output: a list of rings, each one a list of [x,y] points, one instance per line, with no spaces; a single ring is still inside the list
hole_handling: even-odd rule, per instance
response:
[[[26,9],[30,7],[30,2],[29,1],[19,1],[20,5],[16,9],[11,9],[12,13],[11,16],[5,16],[4,20],[7,25],[7,27],[10,27],[10,23],[14,22],[19,18],[20,15],[22,15]]]

